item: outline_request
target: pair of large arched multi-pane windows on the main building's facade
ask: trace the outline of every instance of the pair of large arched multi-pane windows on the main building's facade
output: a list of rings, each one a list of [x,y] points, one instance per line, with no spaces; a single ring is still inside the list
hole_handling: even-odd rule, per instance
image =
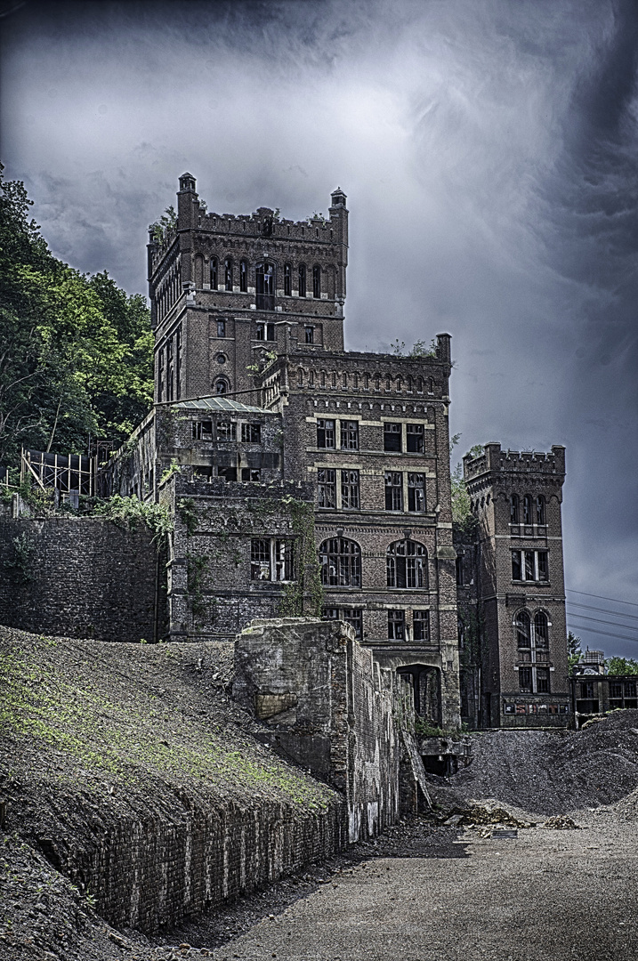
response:
[[[361,586],[361,548],[346,537],[331,537],[319,547],[321,582],[326,587]],[[388,587],[427,588],[428,552],[418,541],[390,544],[385,555]]]

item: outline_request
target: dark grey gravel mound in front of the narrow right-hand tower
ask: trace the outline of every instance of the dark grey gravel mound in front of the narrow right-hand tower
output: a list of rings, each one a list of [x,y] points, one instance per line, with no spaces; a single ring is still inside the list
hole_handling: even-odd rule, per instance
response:
[[[491,798],[547,816],[626,799],[625,816],[638,817],[637,710],[579,731],[485,731],[472,746],[472,764],[433,787],[448,810]]]

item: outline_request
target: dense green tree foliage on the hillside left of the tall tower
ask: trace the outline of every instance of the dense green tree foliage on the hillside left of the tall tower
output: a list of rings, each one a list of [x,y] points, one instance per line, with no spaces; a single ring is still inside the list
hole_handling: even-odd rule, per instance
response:
[[[20,447],[117,447],[153,402],[153,335],[144,298],[106,273],[53,257],[19,181],[0,165],[0,464]]]

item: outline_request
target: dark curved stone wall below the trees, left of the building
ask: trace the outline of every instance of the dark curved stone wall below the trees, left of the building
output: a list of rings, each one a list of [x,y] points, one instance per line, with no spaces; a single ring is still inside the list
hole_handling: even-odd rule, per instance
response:
[[[0,624],[149,643],[165,626],[165,557],[146,528],[89,517],[0,520]]]

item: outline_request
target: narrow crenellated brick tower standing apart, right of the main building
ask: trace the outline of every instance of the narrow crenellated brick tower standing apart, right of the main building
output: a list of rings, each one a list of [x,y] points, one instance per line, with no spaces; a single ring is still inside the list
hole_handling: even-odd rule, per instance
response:
[[[569,718],[561,527],[565,449],[463,458],[476,529],[457,537],[464,713],[482,727]],[[472,703],[473,696],[479,699]]]

